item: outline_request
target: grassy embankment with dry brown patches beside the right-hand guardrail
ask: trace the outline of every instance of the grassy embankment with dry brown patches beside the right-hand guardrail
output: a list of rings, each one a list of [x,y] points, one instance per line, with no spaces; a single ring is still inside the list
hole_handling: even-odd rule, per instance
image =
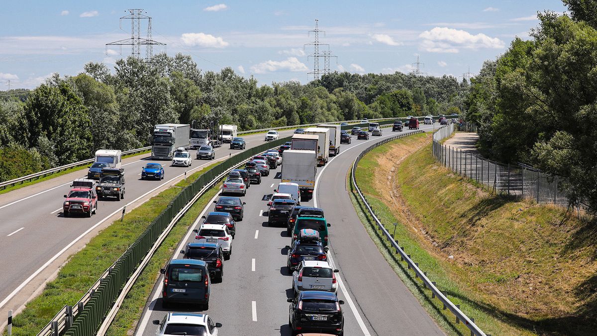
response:
[[[595,223],[559,207],[487,193],[436,164],[429,142],[430,136],[417,135],[380,146],[357,170],[359,187],[386,228],[401,224],[400,245],[488,334],[594,335]],[[361,211],[356,198],[353,203]],[[467,335],[379,240],[371,219],[359,215],[427,311],[448,334]]]

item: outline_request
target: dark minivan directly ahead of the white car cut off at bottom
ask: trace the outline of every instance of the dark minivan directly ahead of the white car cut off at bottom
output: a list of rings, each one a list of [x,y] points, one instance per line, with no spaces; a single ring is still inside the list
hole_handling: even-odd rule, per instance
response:
[[[162,307],[170,303],[190,303],[208,310],[211,280],[205,261],[174,259],[160,272],[164,274]]]

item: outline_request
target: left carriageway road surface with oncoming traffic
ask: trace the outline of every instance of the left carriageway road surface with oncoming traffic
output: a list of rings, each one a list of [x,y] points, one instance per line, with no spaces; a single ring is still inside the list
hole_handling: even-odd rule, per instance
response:
[[[281,138],[293,131],[279,132]],[[247,148],[264,143],[263,134],[244,136]],[[227,144],[216,149],[216,160],[240,152]],[[165,167],[162,181],[142,181],[141,167],[150,157],[138,155],[123,160],[125,199],[99,201],[97,214],[91,218],[62,215],[63,195],[76,178],[87,176],[87,169],[69,173],[38,184],[0,195],[0,325],[6,322],[8,310],[17,311],[32,294],[38,294],[44,283],[58,270],[67,257],[81,249],[101,228],[119,218],[122,207],[127,212],[150,197],[176,184],[187,174],[196,172],[214,161],[196,160],[192,151],[191,167],[170,167],[170,161],[156,161]],[[36,292],[38,291],[38,292]]]

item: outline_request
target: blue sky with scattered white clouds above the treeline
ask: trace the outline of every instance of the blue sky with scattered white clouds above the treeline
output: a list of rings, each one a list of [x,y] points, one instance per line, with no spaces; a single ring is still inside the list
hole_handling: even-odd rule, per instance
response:
[[[223,1],[223,2],[222,2]],[[11,1],[0,11],[0,90],[34,88],[54,72],[77,75],[85,63],[131,54],[106,44],[130,38],[129,8],[152,17],[153,48],[189,54],[203,71],[226,66],[260,85],[313,79],[315,20],[331,71],[474,75],[512,39],[528,39],[537,11],[563,13],[560,0],[524,1]],[[141,21],[145,38],[147,20]],[[144,56],[141,47],[141,55]],[[320,60],[320,69],[323,68]],[[9,82],[10,81],[10,84]]]

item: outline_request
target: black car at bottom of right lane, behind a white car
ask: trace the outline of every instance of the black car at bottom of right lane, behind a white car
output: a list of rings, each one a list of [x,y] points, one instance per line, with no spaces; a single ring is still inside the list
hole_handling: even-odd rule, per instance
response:
[[[301,291],[290,302],[288,322],[293,335],[300,332],[321,332],[326,334],[344,334],[344,316],[338,300],[333,292]]]

